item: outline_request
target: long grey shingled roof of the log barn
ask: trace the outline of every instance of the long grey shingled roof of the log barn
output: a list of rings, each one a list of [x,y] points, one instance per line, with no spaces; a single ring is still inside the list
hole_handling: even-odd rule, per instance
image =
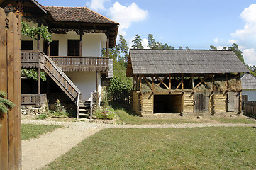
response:
[[[230,50],[130,49],[126,76],[249,72]]]

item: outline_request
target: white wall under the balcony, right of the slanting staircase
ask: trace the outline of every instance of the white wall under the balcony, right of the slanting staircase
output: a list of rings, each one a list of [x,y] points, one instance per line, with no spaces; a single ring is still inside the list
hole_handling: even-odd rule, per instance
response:
[[[91,99],[91,92],[96,92],[96,72],[65,72],[82,93],[82,100]],[[101,94],[101,77],[98,77],[98,91]]]

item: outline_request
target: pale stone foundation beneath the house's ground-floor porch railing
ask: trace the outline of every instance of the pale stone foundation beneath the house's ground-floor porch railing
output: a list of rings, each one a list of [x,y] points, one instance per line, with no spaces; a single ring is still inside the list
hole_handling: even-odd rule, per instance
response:
[[[48,108],[47,104],[42,104],[41,107],[35,107],[34,105],[22,105],[21,114],[22,115],[40,115],[45,112]]]

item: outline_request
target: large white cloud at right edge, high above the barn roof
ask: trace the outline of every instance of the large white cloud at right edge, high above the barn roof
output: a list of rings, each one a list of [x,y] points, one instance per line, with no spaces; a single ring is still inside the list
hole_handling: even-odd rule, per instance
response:
[[[240,14],[240,17],[246,22],[243,29],[236,30],[231,33],[232,36],[238,37],[241,40],[256,38],[256,4],[245,8]]]

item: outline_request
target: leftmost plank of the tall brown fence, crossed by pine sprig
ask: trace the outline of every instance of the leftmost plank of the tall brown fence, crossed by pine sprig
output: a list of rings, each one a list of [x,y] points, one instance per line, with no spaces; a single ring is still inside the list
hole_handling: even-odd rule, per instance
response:
[[[7,92],[7,61],[6,61],[6,13],[2,8],[0,8],[0,91]],[[1,169],[9,169],[8,164],[8,122],[7,114],[1,114],[0,123],[2,127],[0,128],[0,165]]]

